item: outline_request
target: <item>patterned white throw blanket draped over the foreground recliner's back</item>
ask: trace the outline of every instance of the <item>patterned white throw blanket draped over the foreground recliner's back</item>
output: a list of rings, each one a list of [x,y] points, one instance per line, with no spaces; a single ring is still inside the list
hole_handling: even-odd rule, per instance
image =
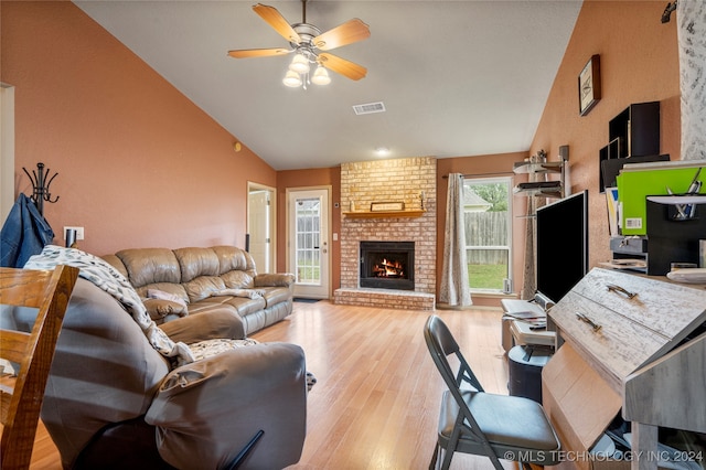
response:
[[[54,269],[57,265],[79,268],[78,276],[113,296],[140,325],[152,348],[175,366],[194,362],[194,355],[184,343],[172,341],[150,318],[140,296],[118,270],[105,260],[74,248],[46,245],[41,254],[30,257],[25,269]]]

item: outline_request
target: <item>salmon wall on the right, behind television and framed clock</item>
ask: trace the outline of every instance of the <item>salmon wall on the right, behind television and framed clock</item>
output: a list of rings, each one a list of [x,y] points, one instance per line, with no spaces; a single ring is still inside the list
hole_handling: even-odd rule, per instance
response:
[[[598,157],[608,145],[608,122],[633,103],[660,102],[661,153],[681,160],[676,15],[661,23],[665,4],[584,2],[532,143],[531,154],[546,149],[549,160],[558,160],[559,146],[569,146],[571,191],[589,191],[591,266],[611,258]],[[578,75],[593,54],[600,54],[602,97],[581,117]]]

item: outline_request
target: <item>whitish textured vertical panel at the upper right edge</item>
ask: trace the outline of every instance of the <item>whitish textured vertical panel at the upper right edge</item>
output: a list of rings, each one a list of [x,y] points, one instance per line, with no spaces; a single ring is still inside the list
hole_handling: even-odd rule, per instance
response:
[[[676,7],[682,92],[682,160],[706,159],[706,1]]]

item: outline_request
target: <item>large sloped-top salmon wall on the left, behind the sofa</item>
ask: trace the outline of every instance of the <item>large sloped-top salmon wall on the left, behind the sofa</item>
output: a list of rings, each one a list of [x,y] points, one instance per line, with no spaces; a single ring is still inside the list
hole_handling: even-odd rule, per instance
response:
[[[14,86],[15,194],[43,162],[56,244],[85,227],[96,255],[243,246],[247,181],[276,171],[71,2],[2,2],[2,83]],[[236,110],[237,111],[237,110]]]

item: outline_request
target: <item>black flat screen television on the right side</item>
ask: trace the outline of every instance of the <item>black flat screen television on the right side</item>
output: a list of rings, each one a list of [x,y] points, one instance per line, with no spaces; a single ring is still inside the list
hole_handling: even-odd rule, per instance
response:
[[[537,299],[557,303],[588,273],[588,191],[536,211]]]

